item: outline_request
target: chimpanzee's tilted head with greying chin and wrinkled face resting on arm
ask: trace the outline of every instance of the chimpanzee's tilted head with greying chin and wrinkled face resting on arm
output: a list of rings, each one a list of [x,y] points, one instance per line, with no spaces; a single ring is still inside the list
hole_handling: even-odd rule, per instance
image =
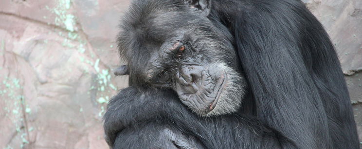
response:
[[[238,73],[233,37],[208,19],[211,0],[137,0],[118,38],[132,85],[176,91],[199,115],[238,110],[246,83]]]

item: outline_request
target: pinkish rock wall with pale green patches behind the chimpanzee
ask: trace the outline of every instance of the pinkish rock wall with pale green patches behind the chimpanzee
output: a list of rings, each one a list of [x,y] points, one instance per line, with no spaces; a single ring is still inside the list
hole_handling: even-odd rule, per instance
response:
[[[338,50],[362,139],[362,1],[304,0]],[[106,103],[128,0],[0,1],[0,148],[107,149]]]

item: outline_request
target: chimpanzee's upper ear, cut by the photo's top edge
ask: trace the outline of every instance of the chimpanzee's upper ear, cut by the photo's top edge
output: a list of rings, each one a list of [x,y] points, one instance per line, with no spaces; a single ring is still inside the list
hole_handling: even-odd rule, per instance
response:
[[[211,0],[185,0],[185,4],[193,11],[207,17],[210,14]]]

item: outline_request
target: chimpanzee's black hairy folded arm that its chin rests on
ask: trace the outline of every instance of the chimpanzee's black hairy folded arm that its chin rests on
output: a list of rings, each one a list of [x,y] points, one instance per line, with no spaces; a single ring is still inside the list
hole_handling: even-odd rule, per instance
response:
[[[120,137],[159,137],[153,136],[156,133],[138,130],[148,124],[167,126],[178,134],[195,137],[210,149],[294,147],[288,139],[253,117],[236,114],[199,117],[171,91],[145,90],[141,93],[135,87],[128,87],[111,99],[104,120],[106,140],[111,147],[116,145],[114,148],[122,144],[115,142]],[[150,144],[148,141],[152,139],[140,140],[133,143]],[[131,145],[129,143],[127,146]]]

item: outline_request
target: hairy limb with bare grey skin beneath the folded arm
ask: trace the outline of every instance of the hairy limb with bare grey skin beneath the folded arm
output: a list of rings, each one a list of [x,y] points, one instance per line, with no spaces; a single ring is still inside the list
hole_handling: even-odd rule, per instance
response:
[[[114,149],[205,149],[202,143],[168,125],[155,122],[140,124],[117,134]]]

